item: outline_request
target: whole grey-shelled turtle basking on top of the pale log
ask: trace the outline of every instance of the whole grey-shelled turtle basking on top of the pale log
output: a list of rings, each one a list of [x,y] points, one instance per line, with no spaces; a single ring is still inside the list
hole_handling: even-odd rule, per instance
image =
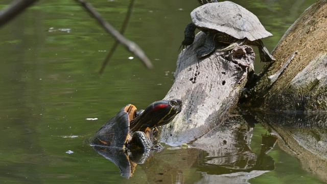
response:
[[[221,42],[229,45],[217,51],[230,51],[244,44],[254,45],[259,48],[261,61],[275,61],[260,40],[272,34],[265,30],[253,13],[229,1],[198,1],[202,6],[191,12],[192,22],[185,28],[181,46],[187,47],[194,42],[194,32],[198,28],[206,34],[204,45],[196,53],[199,59],[212,54],[217,43]]]

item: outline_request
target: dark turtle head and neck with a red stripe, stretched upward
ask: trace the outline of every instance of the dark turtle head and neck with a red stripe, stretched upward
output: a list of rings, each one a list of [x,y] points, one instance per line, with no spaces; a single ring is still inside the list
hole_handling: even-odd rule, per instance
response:
[[[144,131],[147,127],[166,125],[181,111],[182,101],[179,99],[160,100],[150,104],[143,113],[130,122],[133,131]]]

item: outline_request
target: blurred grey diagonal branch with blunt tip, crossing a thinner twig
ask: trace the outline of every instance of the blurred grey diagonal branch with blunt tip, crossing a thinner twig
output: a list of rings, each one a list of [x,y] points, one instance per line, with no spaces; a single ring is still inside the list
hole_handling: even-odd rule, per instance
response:
[[[113,36],[113,38],[117,41],[119,41],[121,44],[124,45],[126,49],[128,49],[130,52],[132,52],[136,57],[141,59],[143,63],[148,67],[153,67],[151,61],[149,58],[144,54],[141,48],[138,47],[138,45],[128,39],[126,39],[122,34],[120,34],[118,31],[116,31],[107,21],[105,21],[99,12],[95,10],[95,8],[89,4],[86,3],[84,0],[76,0],[78,3],[80,3],[95,19],[98,20],[99,24],[109,33]]]

